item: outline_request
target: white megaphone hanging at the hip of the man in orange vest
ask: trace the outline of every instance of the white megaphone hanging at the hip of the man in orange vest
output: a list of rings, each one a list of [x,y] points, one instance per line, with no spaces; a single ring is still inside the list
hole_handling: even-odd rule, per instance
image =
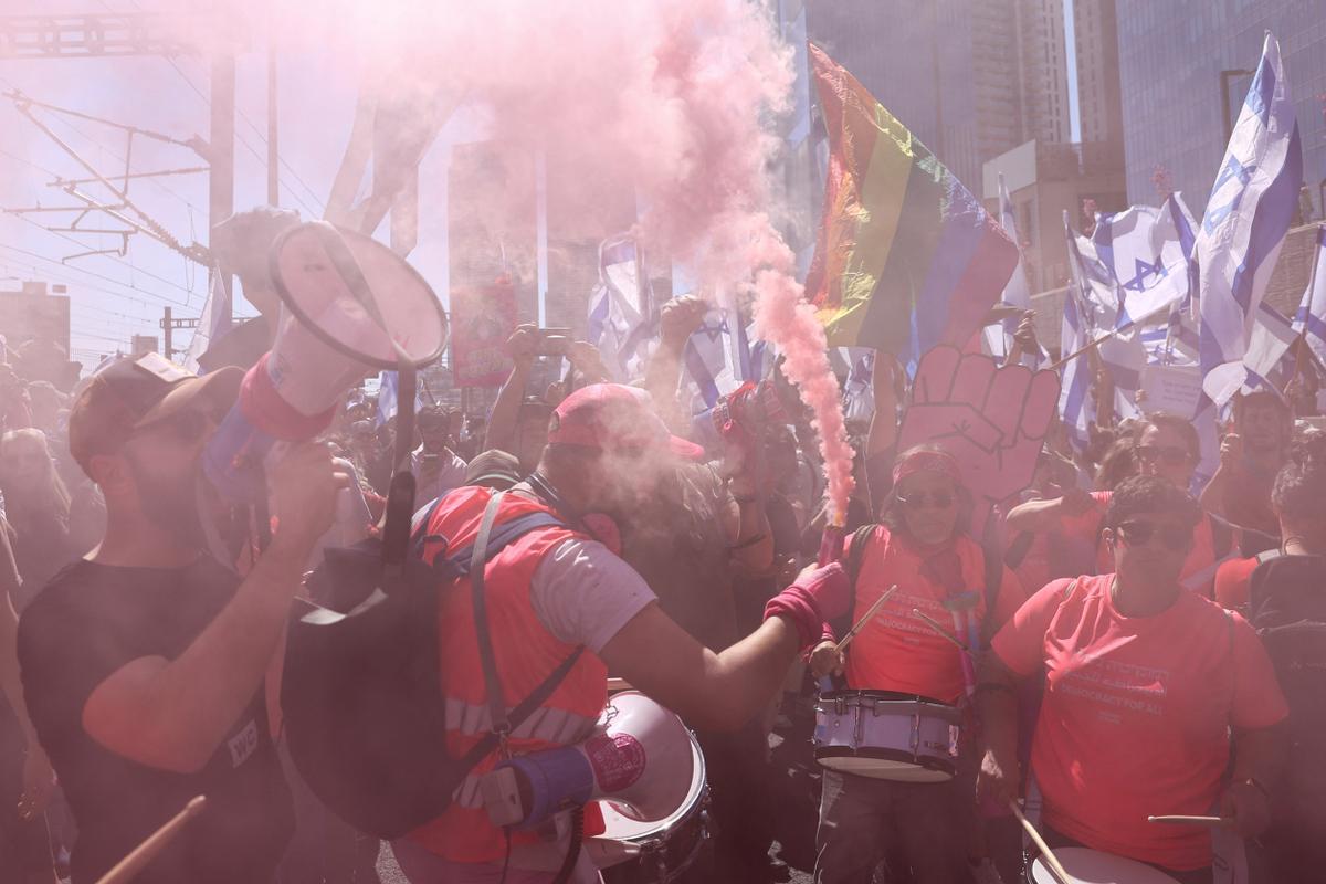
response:
[[[593,737],[517,755],[480,781],[497,826],[530,828],[560,810],[605,801],[640,822],[666,819],[686,802],[695,767],[691,733],[636,691],[613,694]]]

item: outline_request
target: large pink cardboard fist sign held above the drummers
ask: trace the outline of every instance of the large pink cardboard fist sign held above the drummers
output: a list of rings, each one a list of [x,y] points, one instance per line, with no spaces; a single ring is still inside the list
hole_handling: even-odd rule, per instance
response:
[[[1054,371],[1033,374],[939,346],[916,368],[898,451],[931,443],[957,459],[972,493],[972,530],[980,535],[991,508],[1032,482],[1058,399]]]

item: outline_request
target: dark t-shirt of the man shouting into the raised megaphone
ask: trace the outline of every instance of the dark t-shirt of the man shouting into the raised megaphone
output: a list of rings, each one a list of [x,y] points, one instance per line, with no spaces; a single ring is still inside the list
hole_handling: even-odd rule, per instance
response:
[[[207,807],[137,884],[272,877],[293,831],[293,806],[261,689],[196,774],[122,758],[82,728],[84,705],[107,676],[139,657],[178,657],[237,584],[239,578],[207,558],[183,569],[80,559],[24,612],[19,660],[28,709],[78,823],[74,884],[101,877],[194,795],[207,795]]]

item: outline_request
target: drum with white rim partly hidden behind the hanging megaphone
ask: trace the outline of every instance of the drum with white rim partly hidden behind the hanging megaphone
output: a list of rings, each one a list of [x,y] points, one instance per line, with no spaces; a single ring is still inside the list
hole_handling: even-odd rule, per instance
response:
[[[695,861],[708,840],[709,785],[704,753],[695,734],[686,733],[691,738],[691,787],[672,814],[652,823],[639,822],[614,807],[611,799],[599,803],[605,831],[586,839],[585,850],[603,869],[607,884],[668,884]]]

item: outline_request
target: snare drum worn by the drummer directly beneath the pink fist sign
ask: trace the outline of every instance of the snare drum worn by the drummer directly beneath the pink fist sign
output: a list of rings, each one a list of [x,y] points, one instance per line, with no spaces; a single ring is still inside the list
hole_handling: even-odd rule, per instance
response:
[[[891,691],[830,691],[815,704],[815,761],[874,779],[939,783],[957,774],[961,714]]]

